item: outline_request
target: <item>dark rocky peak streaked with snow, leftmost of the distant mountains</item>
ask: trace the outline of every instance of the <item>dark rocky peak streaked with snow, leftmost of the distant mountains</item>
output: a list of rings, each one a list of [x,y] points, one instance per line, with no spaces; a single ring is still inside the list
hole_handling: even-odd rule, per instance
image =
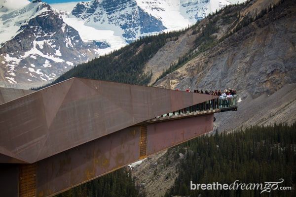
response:
[[[32,16],[25,18],[30,12]],[[97,56],[97,43],[83,42],[46,3],[33,1],[23,10],[2,15],[2,21],[13,21],[11,15],[24,15],[24,21],[18,22],[18,33],[0,47],[1,86],[30,88],[49,83],[72,66]]]

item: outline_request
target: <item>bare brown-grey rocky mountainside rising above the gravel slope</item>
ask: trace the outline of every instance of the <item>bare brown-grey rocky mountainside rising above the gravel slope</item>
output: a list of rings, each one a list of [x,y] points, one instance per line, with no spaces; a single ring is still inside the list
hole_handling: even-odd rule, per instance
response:
[[[294,83],[296,27],[290,19],[295,18],[295,4],[287,6],[286,1],[274,0],[272,7],[266,4],[266,8],[249,14],[248,10],[264,2],[251,0],[247,5],[231,6],[182,33],[156,36],[166,39],[166,44],[154,47],[156,53],[145,63],[144,75],[151,74],[148,85],[191,91],[231,87],[256,98]],[[131,50],[130,57],[136,56],[146,50],[149,39],[142,40],[144,45],[131,45],[116,53]],[[110,60],[109,67],[121,64],[114,62],[118,58]],[[157,80],[171,67],[175,71]],[[75,71],[68,76],[75,76]]]

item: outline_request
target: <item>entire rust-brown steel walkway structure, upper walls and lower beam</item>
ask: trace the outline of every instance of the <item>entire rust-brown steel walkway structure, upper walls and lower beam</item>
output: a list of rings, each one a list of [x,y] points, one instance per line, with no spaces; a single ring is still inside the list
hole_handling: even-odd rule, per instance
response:
[[[10,197],[54,196],[213,131],[220,111],[197,110],[215,103],[212,95],[82,78],[6,91],[0,89],[0,191]]]

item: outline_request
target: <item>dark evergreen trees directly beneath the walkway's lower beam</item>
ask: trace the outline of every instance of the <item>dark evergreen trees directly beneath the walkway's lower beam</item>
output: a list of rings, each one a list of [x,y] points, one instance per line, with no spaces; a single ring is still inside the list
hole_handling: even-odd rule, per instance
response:
[[[126,168],[118,169],[56,197],[145,197],[140,195]]]

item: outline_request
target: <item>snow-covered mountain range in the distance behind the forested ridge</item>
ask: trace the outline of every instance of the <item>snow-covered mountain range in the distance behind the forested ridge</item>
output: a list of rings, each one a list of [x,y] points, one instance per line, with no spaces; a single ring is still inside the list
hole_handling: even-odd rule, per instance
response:
[[[186,28],[228,4],[91,0],[63,12],[41,0],[0,0],[0,86],[48,83],[72,66],[142,36]]]

